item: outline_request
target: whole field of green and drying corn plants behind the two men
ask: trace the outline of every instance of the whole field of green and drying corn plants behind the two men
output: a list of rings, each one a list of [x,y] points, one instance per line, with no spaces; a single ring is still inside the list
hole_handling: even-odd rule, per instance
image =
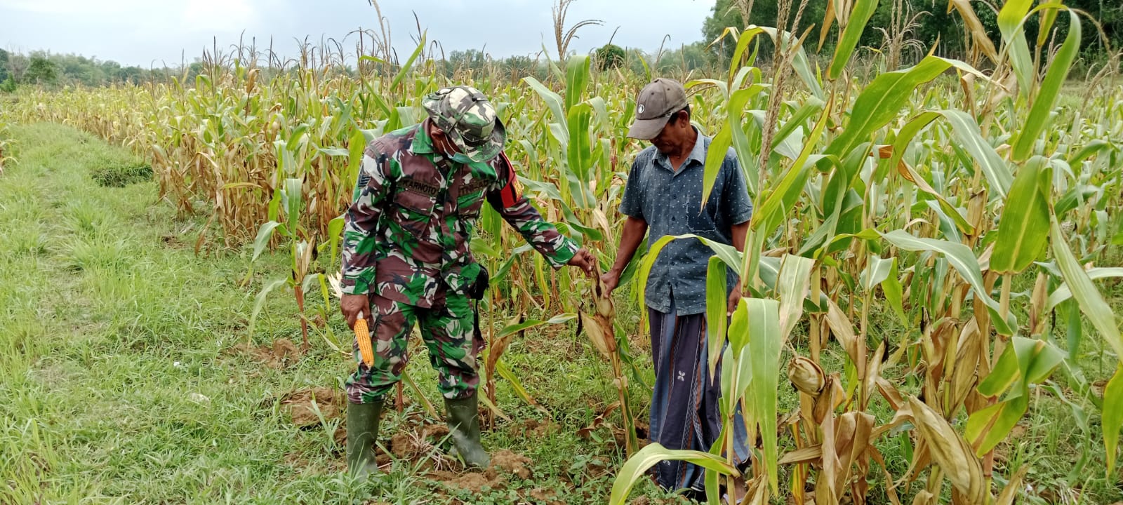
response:
[[[722,375],[722,412],[732,422],[740,405],[756,443],[746,475],[729,459],[731,433],[711,453],[658,444],[633,452],[629,443],[610,503],[624,503],[659,460],[685,459],[711,470],[711,503],[720,486],[743,479],[754,504],[777,496],[861,504],[871,486],[894,504],[1011,504],[1025,467],[996,463],[995,448],[1040,395],[1093,406],[1107,454],[1095,471],[1119,479],[1123,336],[1101,287],[1123,277],[1112,264],[1123,245],[1123,85],[1104,72],[1066,88],[1079,77],[1069,74],[1080,33],[1094,24],[1061,3],[1007,0],[1002,40],[971,40],[976,66],[928,55],[860,81],[851,61],[876,3],[831,3],[821,26],[839,29],[828,66],[807,57],[827,29],[809,40],[821,28],[750,26],[723,35],[737,44],[728,72],[674,75],[691,93],[697,127],[714,137],[707,180],[732,148],[755,203],[746,254],[710,244],[706,282],[721,286],[709,293],[709,365],[720,357],[733,370]],[[951,3],[966,26],[978,25],[969,2]],[[1041,24],[1035,39],[1022,30],[1028,19]],[[761,40],[774,54],[759,54]],[[596,72],[587,56],[548,65],[546,82],[471,73],[451,81],[497,104],[528,195],[610,265],[623,222],[615,208],[645,147],[626,132],[651,75]],[[423,119],[421,98],[449,80],[423,40],[404,63],[360,66],[358,76],[336,72],[330,58],[284,72],[237,57],[210,68],[194,82],[28,91],[3,116],[129,146],[152,162],[163,199],[209,215],[197,251],[255,238],[256,254],[291,247],[301,312],[330,313],[326,277],[338,269],[338,218],[363,146]],[[2,131],[0,123],[0,167]],[[261,233],[267,222],[285,223],[287,235]],[[494,273],[493,313],[506,314],[485,330],[484,403],[506,416],[494,397],[502,377],[536,404],[503,350],[520,331],[576,319],[612,362],[630,425],[638,413],[629,396],[649,394],[628,380],[629,342],[642,323],[614,321],[596,286],[524,254],[529,247],[490,209],[480,229],[472,250]],[[626,272],[621,284],[632,288],[618,306],[643,300],[647,273],[670,240],[701,239],[651,240]],[[725,266],[746,285],[728,322]],[[305,295],[322,299],[322,309],[305,309]],[[310,331],[345,346],[330,325],[307,325],[305,342]],[[1086,339],[1106,343],[1116,367],[1098,391],[1075,359]],[[779,407],[785,376],[798,392],[789,412]],[[886,444],[907,447],[906,470],[891,474]]]

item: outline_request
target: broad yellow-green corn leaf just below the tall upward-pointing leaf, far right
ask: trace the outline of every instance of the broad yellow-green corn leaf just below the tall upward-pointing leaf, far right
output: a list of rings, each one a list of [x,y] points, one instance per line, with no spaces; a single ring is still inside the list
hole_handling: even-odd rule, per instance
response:
[[[998,222],[998,240],[990,255],[990,269],[1017,274],[1041,256],[1049,242],[1049,196],[1052,168],[1034,156],[1017,172],[1006,208]]]

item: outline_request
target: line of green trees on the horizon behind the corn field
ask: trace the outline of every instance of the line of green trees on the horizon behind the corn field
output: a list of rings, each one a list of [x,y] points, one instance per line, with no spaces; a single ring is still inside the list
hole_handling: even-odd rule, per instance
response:
[[[748,25],[776,26],[779,17],[779,4],[787,4],[785,24],[788,29],[802,34],[814,26],[812,34],[804,42],[804,47],[814,57],[816,54],[830,55],[833,48],[818,47],[819,27],[822,26],[830,0],[791,1],[754,1],[754,0],[718,0],[710,16],[703,22],[701,39],[690,44],[678,44],[660,48],[657,52],[643,52],[638,48],[624,48],[606,44],[595,50],[595,59],[602,70],[615,67],[629,68],[636,74],[647,71],[656,73],[691,72],[699,70],[723,68],[732,56],[736,43],[732,38],[723,38],[718,43],[728,27],[745,27]],[[998,46],[997,13],[1001,0],[975,0],[974,8],[979,22],[989,38]],[[1078,9],[1095,20],[1085,21],[1090,29],[1083,30],[1080,44],[1081,63],[1085,66],[1098,65],[1110,61],[1113,54],[1123,48],[1123,2],[1119,0],[1066,0],[1065,4]],[[748,12],[746,22],[745,12]],[[792,26],[798,18],[798,26]],[[1087,19],[1086,18],[1086,19]],[[1068,18],[1058,17],[1056,26],[1067,31]],[[1096,28],[1098,27],[1098,28]],[[837,25],[831,30],[837,30]],[[859,47],[867,56],[882,55],[896,67],[910,64],[930,50],[947,57],[967,59],[970,50],[968,34],[960,15],[949,11],[946,0],[882,0],[877,10],[862,34]],[[1038,18],[1032,17],[1025,24],[1025,30],[1031,39],[1037,36]],[[828,34],[827,40],[837,39]],[[572,50],[570,50],[572,53]],[[861,54],[861,53],[859,53]],[[767,59],[770,47],[767,40],[761,43],[760,55]],[[898,62],[900,59],[900,62]],[[433,62],[437,71],[453,76],[457,72],[510,75],[512,80],[524,75],[536,75],[545,79],[549,75],[548,56],[545,50],[538,55],[515,55],[506,58],[493,58],[480,49],[454,50],[441,55]],[[1116,63],[1117,64],[1117,63]],[[0,91],[11,91],[20,84],[42,86],[84,85],[101,86],[115,83],[140,83],[148,81],[166,81],[170,77],[186,77],[193,80],[204,71],[204,65],[197,59],[179,68],[121,65],[111,59],[98,59],[76,54],[55,54],[36,50],[22,54],[0,49]],[[276,70],[282,72],[283,70]],[[354,74],[355,68],[343,67],[339,72]]]

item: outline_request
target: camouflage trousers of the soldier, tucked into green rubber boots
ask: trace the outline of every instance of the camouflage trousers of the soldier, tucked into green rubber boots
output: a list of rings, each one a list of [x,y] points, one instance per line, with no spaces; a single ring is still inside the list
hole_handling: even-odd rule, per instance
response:
[[[347,400],[351,403],[382,402],[402,378],[409,360],[410,333],[421,327],[421,339],[429,349],[429,362],[440,375],[438,388],[449,400],[471,396],[480,385],[476,356],[484,347],[475,338],[475,312],[468,297],[449,293],[444,303],[431,309],[419,307],[371,294],[371,327],[374,366],[367,367],[353,342],[358,369],[347,378]]]

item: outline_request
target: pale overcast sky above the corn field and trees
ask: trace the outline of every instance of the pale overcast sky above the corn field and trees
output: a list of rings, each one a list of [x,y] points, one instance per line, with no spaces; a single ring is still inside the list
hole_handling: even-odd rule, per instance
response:
[[[576,0],[568,24],[603,19],[604,26],[578,31],[570,49],[588,52],[609,42],[655,50],[669,35],[668,47],[702,38],[702,21],[714,0]],[[404,58],[412,50],[416,11],[429,39],[446,53],[485,48],[494,57],[529,55],[542,44],[556,54],[553,0],[382,0],[391,38]],[[296,53],[295,38],[340,39],[349,31],[377,25],[367,0],[0,0],[0,47],[24,53],[49,49],[113,59],[143,67],[177,65],[211,47],[257,37],[284,55]],[[355,38],[345,47],[354,46]],[[485,47],[486,45],[486,47]],[[404,53],[404,54],[402,54]]]

